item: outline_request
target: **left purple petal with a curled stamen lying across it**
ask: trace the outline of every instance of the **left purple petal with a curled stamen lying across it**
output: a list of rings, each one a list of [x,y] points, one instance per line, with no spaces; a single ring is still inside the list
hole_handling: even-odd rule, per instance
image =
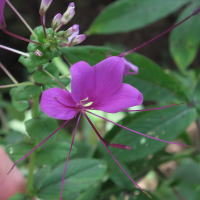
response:
[[[56,119],[68,120],[76,115],[76,103],[71,93],[61,88],[50,88],[42,93],[41,110]]]

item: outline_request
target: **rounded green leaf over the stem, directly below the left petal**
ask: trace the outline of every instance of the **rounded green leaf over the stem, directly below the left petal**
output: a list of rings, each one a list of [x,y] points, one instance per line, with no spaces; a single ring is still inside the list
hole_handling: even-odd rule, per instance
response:
[[[36,139],[38,142],[42,142],[58,128],[58,125],[56,119],[40,116],[39,118],[26,121],[25,127],[31,138]],[[46,143],[53,142],[54,140],[55,136],[52,136]]]

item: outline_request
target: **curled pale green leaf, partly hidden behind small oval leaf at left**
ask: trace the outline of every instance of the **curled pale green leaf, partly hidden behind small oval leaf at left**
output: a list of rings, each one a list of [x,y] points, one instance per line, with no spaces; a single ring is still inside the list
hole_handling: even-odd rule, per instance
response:
[[[11,100],[12,100],[12,105],[19,112],[26,110],[30,106],[28,101],[16,101],[15,100],[15,96],[16,96],[17,92],[21,90],[21,88],[23,88],[23,87],[22,86],[21,87],[16,87],[16,88],[12,88],[10,90],[10,96],[11,96]]]

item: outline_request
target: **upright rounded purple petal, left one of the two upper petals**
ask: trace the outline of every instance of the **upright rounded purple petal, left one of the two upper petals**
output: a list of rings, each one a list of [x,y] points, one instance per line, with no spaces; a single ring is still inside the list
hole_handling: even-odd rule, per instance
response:
[[[86,99],[95,88],[95,74],[93,68],[86,62],[80,61],[71,66],[72,98],[76,103]]]

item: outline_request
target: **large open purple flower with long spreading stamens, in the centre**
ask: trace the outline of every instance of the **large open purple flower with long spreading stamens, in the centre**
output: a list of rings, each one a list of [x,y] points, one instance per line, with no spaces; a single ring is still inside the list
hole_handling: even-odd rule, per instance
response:
[[[114,123],[106,118],[103,118],[97,114],[94,114],[93,110],[101,110],[108,113],[117,113],[117,112],[131,112],[133,110],[125,110],[129,107],[140,105],[143,102],[142,94],[134,87],[129,84],[122,83],[123,74],[124,74],[125,63],[120,57],[113,56],[109,57],[100,63],[97,63],[94,67],[91,67],[88,63],[80,61],[71,66],[71,93],[61,88],[51,88],[45,90],[42,93],[40,108],[47,115],[61,120],[66,120],[56,131],[54,131],[49,137],[47,137],[43,142],[38,146],[32,149],[28,154],[23,158],[17,161],[14,166],[27,157],[31,152],[36,148],[42,145],[46,140],[53,136],[60,128],[62,128],[70,119],[74,118],[78,114],[78,120],[76,123],[75,131],[72,138],[71,147],[67,157],[63,179],[61,184],[61,198],[62,199],[62,190],[65,179],[65,171],[69,156],[71,153],[72,145],[74,142],[76,130],[81,115],[84,115],[88,120],[89,124],[92,126],[100,141],[103,143],[107,151],[110,153],[112,158],[116,161],[119,167],[124,171],[124,173],[130,178],[130,180],[137,186],[137,183],[128,175],[128,173],[122,168],[116,158],[108,149],[108,146],[120,149],[130,150],[130,146],[123,144],[109,143],[105,141],[97,129],[94,127],[93,123],[87,116],[87,113],[90,113],[94,116],[102,118],[106,121],[109,121],[117,126],[120,126],[124,129],[137,133],[139,135],[159,140],[166,143],[177,144],[174,142],[164,141],[158,138],[154,138],[129,128],[126,128],[120,124]],[[170,105],[173,106],[173,105]],[[170,107],[166,106],[166,107]],[[162,107],[165,108],[165,107]],[[156,110],[161,108],[154,109],[145,109],[141,111]],[[184,144],[179,144],[184,145]],[[187,146],[187,145],[185,145]],[[13,167],[14,167],[13,166]],[[11,168],[11,170],[13,169]],[[140,187],[139,187],[140,188]],[[147,194],[142,188],[140,188],[145,194]],[[148,194],[147,194],[148,195]]]

